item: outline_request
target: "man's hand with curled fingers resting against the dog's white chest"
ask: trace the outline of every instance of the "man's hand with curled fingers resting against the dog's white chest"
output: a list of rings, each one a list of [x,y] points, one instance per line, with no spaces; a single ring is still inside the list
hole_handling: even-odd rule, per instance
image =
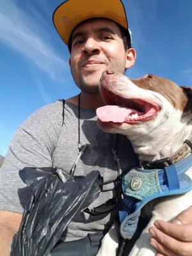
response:
[[[181,212],[173,223],[157,220],[154,225],[149,233],[150,244],[159,252],[156,256],[192,255],[192,206]]]

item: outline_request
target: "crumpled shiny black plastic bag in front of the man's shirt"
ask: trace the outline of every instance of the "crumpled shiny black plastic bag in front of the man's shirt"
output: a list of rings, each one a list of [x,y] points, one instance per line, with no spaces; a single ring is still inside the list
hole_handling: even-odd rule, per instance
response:
[[[33,196],[24,210],[11,256],[47,256],[72,218],[83,211],[102,190],[102,177],[93,171],[72,177],[60,168],[20,170]]]

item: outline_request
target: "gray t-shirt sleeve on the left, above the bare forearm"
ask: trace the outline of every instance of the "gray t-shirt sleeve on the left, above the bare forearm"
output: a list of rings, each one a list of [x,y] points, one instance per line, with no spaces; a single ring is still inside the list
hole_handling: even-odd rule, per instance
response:
[[[62,121],[62,103],[58,101],[33,113],[17,129],[0,170],[1,210],[23,212],[31,193],[20,179],[19,170],[52,166]]]

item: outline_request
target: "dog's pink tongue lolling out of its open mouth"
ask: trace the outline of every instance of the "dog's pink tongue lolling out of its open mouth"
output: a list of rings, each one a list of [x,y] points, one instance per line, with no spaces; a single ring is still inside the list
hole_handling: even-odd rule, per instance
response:
[[[123,123],[129,114],[131,109],[122,108],[119,106],[104,106],[97,108],[96,113],[100,121],[102,122],[114,122]]]

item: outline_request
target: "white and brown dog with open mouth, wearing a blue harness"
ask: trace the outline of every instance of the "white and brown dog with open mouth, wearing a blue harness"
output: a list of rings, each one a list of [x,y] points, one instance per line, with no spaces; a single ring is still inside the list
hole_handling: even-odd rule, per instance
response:
[[[180,87],[153,74],[130,79],[106,70],[100,79],[100,95],[106,103],[97,109],[100,128],[127,136],[141,164],[175,156],[184,147],[187,148],[184,154],[191,153],[191,148],[184,143],[192,136],[191,88]],[[192,168],[186,174],[192,177]],[[184,195],[157,198],[145,205],[143,216],[149,222],[129,256],[156,255],[157,251],[149,244],[148,228],[157,219],[173,221],[191,205],[191,196],[189,191]],[[118,232],[115,230],[113,225],[102,240],[97,256],[116,255]]]

